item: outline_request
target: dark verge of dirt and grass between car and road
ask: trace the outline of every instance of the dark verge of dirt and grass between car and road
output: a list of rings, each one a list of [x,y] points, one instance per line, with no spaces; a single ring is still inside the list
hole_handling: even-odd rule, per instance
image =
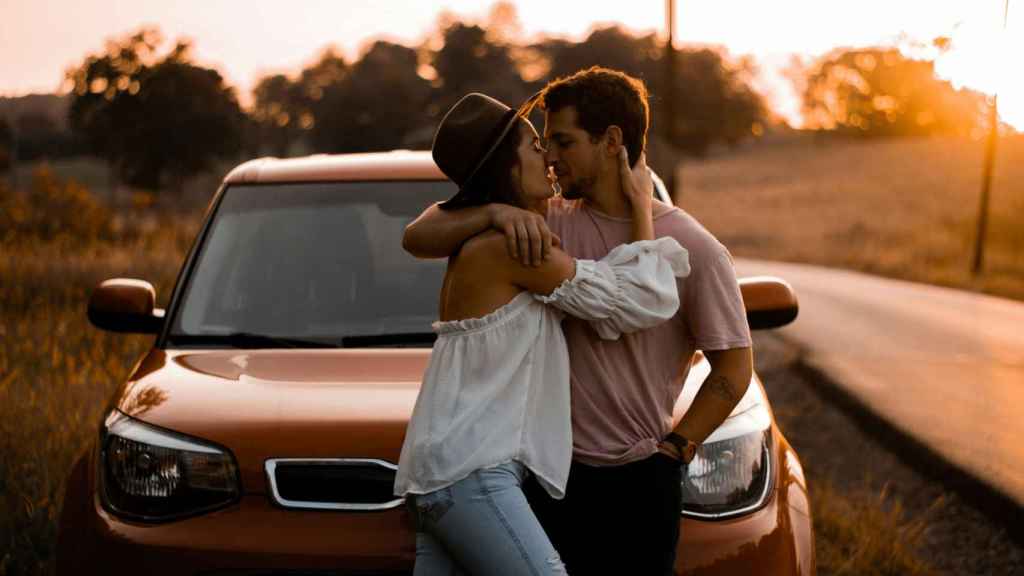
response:
[[[804,464],[817,576],[913,573],[907,552],[931,576],[1024,574],[1016,519],[992,518],[974,493],[908,457],[905,443],[837,396],[835,382],[805,370],[800,348],[780,334],[755,332],[754,359],[775,422]]]

